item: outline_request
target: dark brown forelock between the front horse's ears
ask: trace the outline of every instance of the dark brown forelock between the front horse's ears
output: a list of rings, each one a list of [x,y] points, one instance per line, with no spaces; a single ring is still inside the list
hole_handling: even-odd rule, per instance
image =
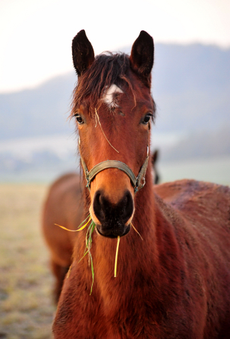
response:
[[[90,112],[101,105],[101,99],[106,90],[115,84],[122,90],[130,88],[136,105],[136,95],[130,82],[130,57],[125,53],[105,52],[96,56],[93,64],[79,76],[73,93],[71,117],[86,97],[89,101]]]

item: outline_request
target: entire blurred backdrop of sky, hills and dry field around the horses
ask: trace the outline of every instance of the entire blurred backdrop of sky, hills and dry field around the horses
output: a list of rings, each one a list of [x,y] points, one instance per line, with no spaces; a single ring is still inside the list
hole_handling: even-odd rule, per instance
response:
[[[72,38],[85,29],[96,54],[130,53],[149,32],[161,182],[230,184],[229,15],[229,0],[0,1],[0,338],[50,338],[40,206],[52,180],[79,169]]]

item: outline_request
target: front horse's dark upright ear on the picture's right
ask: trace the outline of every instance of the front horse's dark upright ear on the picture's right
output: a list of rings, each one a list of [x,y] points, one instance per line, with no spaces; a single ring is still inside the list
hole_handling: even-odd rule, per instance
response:
[[[144,78],[149,78],[154,65],[154,40],[142,30],[132,45],[130,64],[133,71]]]

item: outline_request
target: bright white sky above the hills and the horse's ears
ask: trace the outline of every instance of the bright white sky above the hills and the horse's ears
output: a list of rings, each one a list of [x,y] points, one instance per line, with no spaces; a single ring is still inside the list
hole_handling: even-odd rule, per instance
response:
[[[71,40],[85,29],[96,54],[154,42],[230,47],[230,0],[0,0],[0,93],[72,69]]]

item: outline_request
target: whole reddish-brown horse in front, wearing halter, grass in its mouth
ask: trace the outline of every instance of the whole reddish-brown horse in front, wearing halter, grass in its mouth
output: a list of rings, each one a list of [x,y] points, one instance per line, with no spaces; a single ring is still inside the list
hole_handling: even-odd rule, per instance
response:
[[[230,189],[191,180],[152,185],[152,38],[142,31],[130,57],[95,58],[81,30],[72,51],[84,218],[90,213],[96,225],[94,283],[91,293],[84,229],[74,241],[54,338],[230,338]],[[60,263],[66,250],[53,249]]]

